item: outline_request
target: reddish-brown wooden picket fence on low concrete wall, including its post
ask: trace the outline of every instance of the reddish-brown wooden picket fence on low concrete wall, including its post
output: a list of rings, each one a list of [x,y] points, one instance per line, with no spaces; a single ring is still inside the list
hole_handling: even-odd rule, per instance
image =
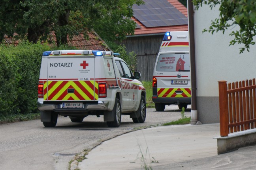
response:
[[[220,136],[256,128],[255,79],[228,83],[218,81]]]

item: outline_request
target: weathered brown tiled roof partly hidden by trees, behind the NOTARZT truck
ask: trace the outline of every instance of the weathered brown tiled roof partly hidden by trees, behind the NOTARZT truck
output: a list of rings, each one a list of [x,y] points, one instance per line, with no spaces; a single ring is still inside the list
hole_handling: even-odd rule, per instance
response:
[[[17,35],[16,33],[14,35]],[[88,32],[88,39],[85,39],[83,33],[80,33],[77,36],[73,36],[73,39],[70,40],[68,38],[68,45],[75,46],[78,49],[83,50],[102,50],[102,51],[111,51],[111,49],[107,46],[107,44],[99,37],[99,35],[92,30]],[[56,36],[54,32],[51,32],[48,39],[48,42],[53,42],[52,44],[57,45]],[[18,40],[15,40],[11,37],[4,36],[5,44],[13,44],[17,45],[19,43]],[[49,45],[52,45],[49,43]]]

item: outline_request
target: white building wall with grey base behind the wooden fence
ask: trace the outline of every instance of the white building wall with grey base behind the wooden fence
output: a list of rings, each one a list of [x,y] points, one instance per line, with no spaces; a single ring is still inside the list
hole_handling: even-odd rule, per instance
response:
[[[256,78],[256,45],[243,54],[239,54],[243,45],[229,46],[233,39],[229,34],[238,26],[226,30],[224,34],[202,33],[218,15],[217,7],[211,10],[206,5],[194,13],[197,109],[198,120],[202,123],[219,122],[218,81],[229,83]]]

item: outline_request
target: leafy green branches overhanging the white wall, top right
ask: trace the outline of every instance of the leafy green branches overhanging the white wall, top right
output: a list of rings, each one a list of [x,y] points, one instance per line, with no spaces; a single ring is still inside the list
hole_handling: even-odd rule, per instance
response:
[[[203,4],[209,5],[211,9],[218,6],[219,18],[212,20],[208,31],[212,34],[216,31],[225,32],[228,28],[238,25],[239,30],[232,31],[230,36],[234,39],[230,41],[230,45],[244,44],[240,49],[240,53],[245,49],[249,52],[250,45],[254,45],[254,36],[256,35],[256,1],[255,0],[192,0],[197,10]]]

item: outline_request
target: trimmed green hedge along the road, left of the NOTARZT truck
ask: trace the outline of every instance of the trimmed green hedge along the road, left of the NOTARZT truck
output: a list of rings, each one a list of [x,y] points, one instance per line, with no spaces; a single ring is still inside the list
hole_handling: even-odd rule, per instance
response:
[[[0,46],[0,115],[38,112],[41,56],[50,49],[48,45],[28,42]]]

